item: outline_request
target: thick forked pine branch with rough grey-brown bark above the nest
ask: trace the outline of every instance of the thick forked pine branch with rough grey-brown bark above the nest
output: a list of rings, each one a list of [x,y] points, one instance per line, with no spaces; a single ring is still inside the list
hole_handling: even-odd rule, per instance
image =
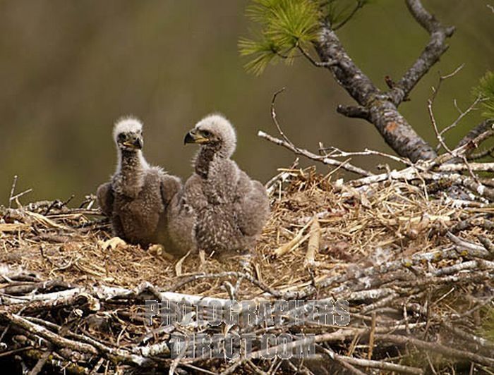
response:
[[[359,104],[356,107],[340,106],[339,113],[349,117],[365,118],[373,123],[387,144],[400,156],[408,157],[411,161],[434,159],[437,154],[433,147],[416,133],[406,118],[399,113],[397,106],[446,51],[445,39],[452,35],[454,28],[442,27],[423,8],[419,0],[406,0],[406,5],[412,16],[430,33],[431,37],[413,66],[406,71],[390,92],[381,92],[356,66],[330,25],[322,25],[320,38],[315,42],[315,49],[321,61],[336,61],[326,68]]]

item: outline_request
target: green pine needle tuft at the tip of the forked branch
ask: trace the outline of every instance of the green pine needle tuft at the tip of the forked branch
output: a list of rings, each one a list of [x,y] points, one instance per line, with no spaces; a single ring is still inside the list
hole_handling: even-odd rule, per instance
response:
[[[253,0],[246,14],[260,32],[256,39],[241,38],[239,49],[242,56],[254,56],[246,69],[257,75],[271,61],[292,63],[296,49],[317,37],[319,10],[313,0]]]

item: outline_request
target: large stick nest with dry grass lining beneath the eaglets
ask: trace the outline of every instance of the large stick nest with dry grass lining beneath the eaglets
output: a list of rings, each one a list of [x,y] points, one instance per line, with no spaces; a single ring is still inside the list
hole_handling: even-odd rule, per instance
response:
[[[109,224],[92,202],[2,208],[0,360],[33,374],[487,371],[493,208],[459,204],[448,188],[286,169],[270,181],[272,215],[253,256],[221,261],[108,241]],[[165,297],[344,300],[349,321],[147,324],[145,301]],[[315,353],[266,359],[254,340],[234,359],[171,358],[174,333],[226,332],[303,333]]]

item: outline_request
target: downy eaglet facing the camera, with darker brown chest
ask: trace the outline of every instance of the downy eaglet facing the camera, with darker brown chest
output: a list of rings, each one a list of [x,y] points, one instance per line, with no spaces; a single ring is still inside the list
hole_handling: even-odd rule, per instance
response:
[[[147,164],[143,156],[143,125],[135,118],[115,124],[116,172],[100,185],[97,199],[112,221],[114,235],[147,246],[167,242],[167,214],[171,198],[181,188],[179,178]]]

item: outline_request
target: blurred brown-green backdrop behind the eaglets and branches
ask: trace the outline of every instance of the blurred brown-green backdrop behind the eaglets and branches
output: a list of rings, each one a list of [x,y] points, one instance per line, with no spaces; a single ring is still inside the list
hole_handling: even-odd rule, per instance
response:
[[[457,26],[450,50],[400,109],[431,142],[426,100],[438,71],[447,80],[436,102],[439,125],[471,102],[471,87],[494,62],[494,14],[485,0],[423,0],[446,25]],[[195,147],[183,135],[202,116],[220,111],[236,125],[234,155],[241,168],[266,181],[294,156],[261,140],[275,134],[270,102],[280,87],[277,112],[291,140],[317,152],[318,142],[345,150],[389,150],[373,125],[344,118],[337,104],[352,101],[327,70],[296,59],[270,66],[260,77],[245,72],[239,37],[248,36],[248,1],[229,0],[0,0],[0,204],[8,202],[13,176],[21,199],[74,202],[95,192],[114,171],[112,126],[133,114],[145,124],[145,156],[181,178],[192,169]],[[356,63],[385,88],[425,46],[428,35],[399,0],[375,0],[339,36]],[[454,142],[480,121],[466,118],[448,133]],[[435,145],[435,142],[434,142]],[[356,164],[373,168],[376,161]],[[304,162],[304,165],[310,164]],[[325,172],[325,166],[319,166]]]

